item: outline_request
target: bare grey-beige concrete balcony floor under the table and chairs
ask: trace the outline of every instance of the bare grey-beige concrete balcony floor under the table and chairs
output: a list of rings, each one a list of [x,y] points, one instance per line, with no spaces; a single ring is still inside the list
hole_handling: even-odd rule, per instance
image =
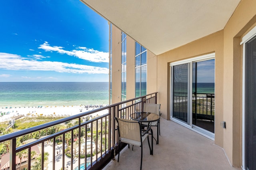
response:
[[[154,155],[148,142],[143,143],[144,170],[240,170],[230,166],[224,150],[210,140],[186,127],[166,119],[160,120],[159,144],[154,140]],[[156,136],[156,127],[154,136]],[[151,142],[150,142],[151,143]],[[111,160],[103,170],[134,170],[140,168],[140,148],[126,146],[120,152],[119,162]]]

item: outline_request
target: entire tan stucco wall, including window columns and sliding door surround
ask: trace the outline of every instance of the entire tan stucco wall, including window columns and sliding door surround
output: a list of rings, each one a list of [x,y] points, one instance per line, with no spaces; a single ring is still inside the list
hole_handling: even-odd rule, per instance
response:
[[[162,117],[170,119],[170,63],[215,52],[215,144],[230,163],[242,165],[242,45],[241,38],[256,25],[256,0],[241,0],[219,32],[167,51],[148,51],[147,93],[158,91]],[[165,33],[166,34],[166,33]],[[112,56],[121,56],[121,31],[112,28]],[[127,99],[134,97],[134,40],[127,38]],[[121,101],[121,57],[112,65],[112,103]],[[226,121],[226,129],[220,126]]]

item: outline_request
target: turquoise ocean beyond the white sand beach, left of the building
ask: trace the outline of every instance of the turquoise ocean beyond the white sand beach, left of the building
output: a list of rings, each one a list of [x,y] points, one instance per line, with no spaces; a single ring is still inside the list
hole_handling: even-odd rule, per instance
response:
[[[108,82],[0,82],[0,107],[108,105]]]

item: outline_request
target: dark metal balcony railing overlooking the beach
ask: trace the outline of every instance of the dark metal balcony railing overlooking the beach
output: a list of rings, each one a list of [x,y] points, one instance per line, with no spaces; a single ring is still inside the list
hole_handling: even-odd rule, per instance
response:
[[[129,119],[130,114],[142,110],[142,101],[157,103],[157,93],[0,136],[10,155],[10,162],[1,162],[1,169],[103,168],[118,152],[114,117]],[[72,126],[62,129],[63,125]],[[39,138],[31,140],[35,134]],[[20,141],[26,144],[18,146]]]

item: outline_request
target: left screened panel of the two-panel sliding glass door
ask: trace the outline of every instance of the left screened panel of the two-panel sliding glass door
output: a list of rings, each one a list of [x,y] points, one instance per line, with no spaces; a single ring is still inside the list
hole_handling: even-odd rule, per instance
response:
[[[172,67],[172,117],[189,124],[189,64]]]

